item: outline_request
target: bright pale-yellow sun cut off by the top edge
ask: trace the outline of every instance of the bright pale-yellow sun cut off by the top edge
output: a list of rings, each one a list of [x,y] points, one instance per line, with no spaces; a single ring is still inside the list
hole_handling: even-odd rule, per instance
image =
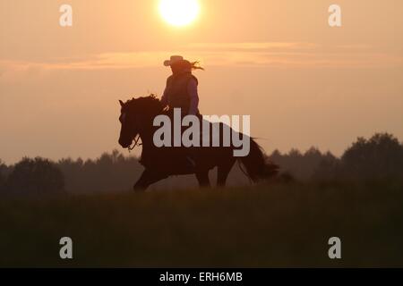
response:
[[[159,13],[173,26],[186,26],[199,15],[200,4],[198,0],[160,0]]]

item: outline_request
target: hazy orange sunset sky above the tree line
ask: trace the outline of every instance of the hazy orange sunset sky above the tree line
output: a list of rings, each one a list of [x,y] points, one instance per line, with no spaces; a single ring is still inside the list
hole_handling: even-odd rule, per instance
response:
[[[200,3],[197,21],[174,28],[158,0],[0,0],[0,158],[120,149],[117,100],[160,95],[172,54],[206,69],[195,71],[201,113],[251,114],[269,153],[340,155],[375,131],[403,139],[403,1]],[[61,4],[73,27],[59,25]]]

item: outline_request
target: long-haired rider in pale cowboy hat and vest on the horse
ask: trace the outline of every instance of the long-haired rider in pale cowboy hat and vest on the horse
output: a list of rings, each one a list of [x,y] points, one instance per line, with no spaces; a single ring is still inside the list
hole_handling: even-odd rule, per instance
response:
[[[204,70],[199,62],[189,62],[181,55],[172,55],[164,62],[170,66],[172,75],[167,78],[167,87],[161,97],[161,104],[170,109],[181,108],[182,115],[199,114],[199,95],[197,86],[199,81],[192,74],[192,70]]]

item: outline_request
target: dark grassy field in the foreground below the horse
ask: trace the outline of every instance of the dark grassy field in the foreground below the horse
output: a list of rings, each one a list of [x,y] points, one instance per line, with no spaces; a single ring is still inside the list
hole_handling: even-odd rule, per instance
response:
[[[0,201],[0,266],[403,266],[403,185],[260,185]],[[73,260],[59,240],[73,239]],[[341,239],[330,260],[328,240]]]

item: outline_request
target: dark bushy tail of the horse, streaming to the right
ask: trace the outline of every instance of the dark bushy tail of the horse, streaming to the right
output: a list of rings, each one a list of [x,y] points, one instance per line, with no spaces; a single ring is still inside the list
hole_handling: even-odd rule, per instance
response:
[[[262,147],[260,147],[252,138],[250,142],[251,147],[249,154],[244,157],[239,157],[239,161],[246,168],[245,174],[253,182],[276,176],[279,172],[279,165],[267,161],[262,151]]]

